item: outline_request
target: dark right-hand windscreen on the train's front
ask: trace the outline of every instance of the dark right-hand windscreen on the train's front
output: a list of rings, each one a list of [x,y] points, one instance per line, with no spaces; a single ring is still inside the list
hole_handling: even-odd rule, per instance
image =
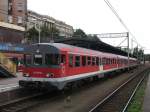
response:
[[[45,54],[45,64],[46,65],[59,65],[59,55],[58,54]]]

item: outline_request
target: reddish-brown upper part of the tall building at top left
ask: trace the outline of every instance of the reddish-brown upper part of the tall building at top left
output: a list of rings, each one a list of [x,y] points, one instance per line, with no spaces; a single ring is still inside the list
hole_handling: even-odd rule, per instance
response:
[[[25,27],[27,0],[0,0],[0,21]]]

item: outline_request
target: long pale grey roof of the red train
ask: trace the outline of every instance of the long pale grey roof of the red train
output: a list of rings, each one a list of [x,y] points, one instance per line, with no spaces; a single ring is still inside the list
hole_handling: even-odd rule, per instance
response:
[[[100,51],[95,51],[95,50],[90,50],[87,48],[77,47],[77,46],[63,44],[63,43],[37,43],[37,44],[33,44],[33,45],[27,47],[26,51],[33,52],[32,50],[37,49],[37,47],[35,47],[35,46],[41,47],[42,52],[53,51],[54,53],[58,53],[60,51],[66,51],[66,52],[70,52],[73,54],[82,53],[85,55],[93,55],[93,56],[101,55],[101,57],[109,57],[109,58],[110,57],[111,58],[119,57],[119,58],[127,59],[127,57],[125,57],[125,56],[116,55],[116,54],[112,54],[112,53],[106,53],[106,52],[100,52]]]

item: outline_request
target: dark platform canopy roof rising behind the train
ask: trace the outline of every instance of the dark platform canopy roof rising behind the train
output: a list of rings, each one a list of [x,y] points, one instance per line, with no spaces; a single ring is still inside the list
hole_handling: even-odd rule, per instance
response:
[[[56,43],[65,43],[69,45],[74,45],[78,47],[88,48],[92,50],[107,52],[107,53],[114,53],[122,56],[127,56],[128,53],[125,51],[120,50],[119,48],[116,48],[114,46],[111,46],[109,44],[106,44],[99,39],[95,38],[79,38],[79,37],[72,37],[72,38],[65,38],[61,40],[55,40]],[[130,54],[130,56],[132,56]],[[133,57],[133,56],[132,56]]]

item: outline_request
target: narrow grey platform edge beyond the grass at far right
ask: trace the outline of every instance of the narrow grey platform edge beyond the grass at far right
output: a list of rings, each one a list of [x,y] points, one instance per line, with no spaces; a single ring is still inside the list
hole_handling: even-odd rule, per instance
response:
[[[147,88],[144,96],[143,112],[150,112],[150,76],[147,82]]]

